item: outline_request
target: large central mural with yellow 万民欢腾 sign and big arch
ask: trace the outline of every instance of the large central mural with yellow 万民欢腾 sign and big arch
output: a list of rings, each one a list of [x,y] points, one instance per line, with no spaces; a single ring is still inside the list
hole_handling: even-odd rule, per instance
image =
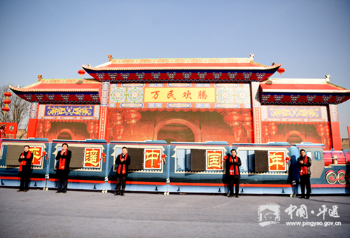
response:
[[[248,83],[111,84],[108,141],[252,141]]]

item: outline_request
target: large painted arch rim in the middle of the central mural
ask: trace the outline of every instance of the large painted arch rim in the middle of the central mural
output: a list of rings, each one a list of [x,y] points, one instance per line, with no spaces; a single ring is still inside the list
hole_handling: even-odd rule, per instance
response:
[[[169,125],[169,124],[182,124],[182,125],[186,125],[187,127],[190,128],[190,130],[192,130],[193,134],[195,135],[195,142],[202,142],[202,132],[200,130],[200,127],[193,121],[190,119],[185,119],[185,118],[165,118],[163,120],[160,120],[159,123],[157,123],[157,125],[155,125],[154,128],[154,139],[157,140],[158,138],[158,132],[162,129],[162,127],[164,127],[165,125]]]

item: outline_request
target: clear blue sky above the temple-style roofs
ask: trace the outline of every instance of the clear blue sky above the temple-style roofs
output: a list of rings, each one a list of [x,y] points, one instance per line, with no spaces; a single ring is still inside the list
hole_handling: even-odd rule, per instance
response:
[[[0,80],[78,78],[113,58],[248,57],[350,88],[350,1],[0,0]],[[86,74],[85,74],[86,76]],[[339,104],[348,138],[350,100]]]

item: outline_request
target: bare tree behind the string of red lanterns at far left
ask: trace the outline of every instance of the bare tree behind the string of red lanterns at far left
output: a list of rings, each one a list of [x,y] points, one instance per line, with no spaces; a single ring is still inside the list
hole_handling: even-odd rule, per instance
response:
[[[15,93],[13,93],[7,85],[2,85],[0,87],[0,107],[6,106],[3,103],[3,100],[6,99],[4,92],[11,92],[12,96],[8,99],[11,100],[11,103],[8,104],[8,111],[6,114],[1,110],[0,112],[0,122],[1,123],[18,123],[18,129],[24,129],[24,131],[20,134],[20,138],[22,138],[27,132],[28,120],[29,120],[29,109],[30,102],[25,101],[18,97]]]

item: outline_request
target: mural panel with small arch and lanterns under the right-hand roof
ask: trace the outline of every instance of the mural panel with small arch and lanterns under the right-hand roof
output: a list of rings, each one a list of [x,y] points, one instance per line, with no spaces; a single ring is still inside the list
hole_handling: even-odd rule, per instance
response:
[[[331,148],[326,106],[261,106],[262,142],[312,142]]]

